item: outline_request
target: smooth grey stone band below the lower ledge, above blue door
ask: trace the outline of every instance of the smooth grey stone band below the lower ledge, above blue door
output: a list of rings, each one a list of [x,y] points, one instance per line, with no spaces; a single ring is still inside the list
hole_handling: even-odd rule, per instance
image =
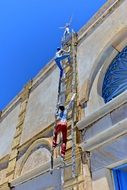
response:
[[[92,171],[109,167],[112,164],[127,160],[127,135],[123,135],[113,142],[105,144],[92,151],[91,166]]]

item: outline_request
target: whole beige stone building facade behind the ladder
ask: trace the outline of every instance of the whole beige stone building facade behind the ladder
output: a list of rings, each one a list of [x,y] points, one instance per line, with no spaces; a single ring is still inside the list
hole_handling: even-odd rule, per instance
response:
[[[51,61],[0,114],[1,190],[127,189],[126,10],[127,0],[109,0],[78,32],[76,177],[66,168],[61,186],[57,152],[49,171],[59,80]]]

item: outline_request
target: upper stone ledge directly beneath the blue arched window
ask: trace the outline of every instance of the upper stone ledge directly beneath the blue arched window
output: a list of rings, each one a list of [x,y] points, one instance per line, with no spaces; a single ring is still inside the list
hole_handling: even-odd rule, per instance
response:
[[[125,91],[124,93],[120,94],[118,97],[114,98],[112,101],[105,104],[103,107],[101,107],[99,110],[97,110],[93,114],[79,121],[77,123],[78,129],[83,130],[89,127],[91,124],[98,121],[99,119],[109,114],[113,110],[119,108],[121,105],[125,103],[127,103],[127,91]]]

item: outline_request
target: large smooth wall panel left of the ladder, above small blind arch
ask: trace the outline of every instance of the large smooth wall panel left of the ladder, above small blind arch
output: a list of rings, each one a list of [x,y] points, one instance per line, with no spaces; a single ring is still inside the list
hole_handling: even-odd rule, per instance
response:
[[[54,121],[59,71],[55,69],[29,97],[21,144]]]

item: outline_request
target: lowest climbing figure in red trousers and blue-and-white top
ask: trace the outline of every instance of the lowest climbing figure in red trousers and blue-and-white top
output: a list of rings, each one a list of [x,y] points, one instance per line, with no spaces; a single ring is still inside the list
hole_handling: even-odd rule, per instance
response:
[[[73,94],[70,103],[65,108],[64,105],[59,105],[56,112],[56,126],[54,129],[53,137],[53,148],[57,146],[57,136],[62,133],[62,144],[61,144],[61,157],[65,157],[66,144],[67,144],[67,112],[73,106],[74,98],[76,94]]]

